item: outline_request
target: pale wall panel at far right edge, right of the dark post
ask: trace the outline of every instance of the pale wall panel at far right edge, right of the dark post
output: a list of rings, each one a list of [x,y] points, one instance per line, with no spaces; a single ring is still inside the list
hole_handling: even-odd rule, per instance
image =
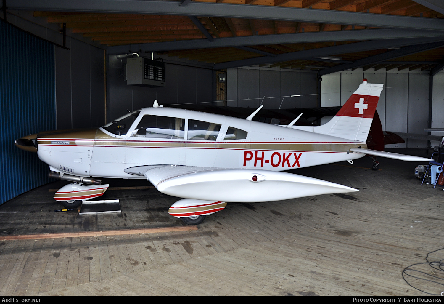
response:
[[[433,76],[432,128],[444,128],[444,72]],[[444,132],[432,132],[432,135],[444,137]],[[439,141],[430,143],[432,147],[439,144]]]

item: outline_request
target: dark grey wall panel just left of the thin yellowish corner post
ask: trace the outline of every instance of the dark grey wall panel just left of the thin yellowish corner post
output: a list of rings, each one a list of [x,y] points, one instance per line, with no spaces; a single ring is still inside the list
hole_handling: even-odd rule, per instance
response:
[[[105,124],[105,62],[104,52],[99,48],[90,46],[90,72],[91,72],[91,127]]]

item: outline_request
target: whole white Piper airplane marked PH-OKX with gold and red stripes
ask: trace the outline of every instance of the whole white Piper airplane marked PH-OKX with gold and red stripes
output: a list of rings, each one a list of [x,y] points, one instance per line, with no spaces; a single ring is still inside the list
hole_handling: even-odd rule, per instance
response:
[[[128,113],[98,129],[40,132],[16,140],[37,152],[50,176],[74,181],[54,199],[75,208],[103,195],[99,177],[146,178],[162,193],[182,197],[168,210],[199,224],[226,202],[254,203],[358,191],[325,180],[281,172],[366,154],[406,161],[429,160],[367,149],[383,84],[363,83],[328,123],[271,125],[159,106]],[[85,185],[90,184],[90,185]],[[273,191],[271,191],[273,190]]]

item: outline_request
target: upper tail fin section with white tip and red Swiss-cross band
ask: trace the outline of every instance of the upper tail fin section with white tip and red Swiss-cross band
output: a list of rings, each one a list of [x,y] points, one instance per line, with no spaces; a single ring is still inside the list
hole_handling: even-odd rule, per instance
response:
[[[364,79],[336,115],[373,118],[381,90],[382,84],[368,84]]]

